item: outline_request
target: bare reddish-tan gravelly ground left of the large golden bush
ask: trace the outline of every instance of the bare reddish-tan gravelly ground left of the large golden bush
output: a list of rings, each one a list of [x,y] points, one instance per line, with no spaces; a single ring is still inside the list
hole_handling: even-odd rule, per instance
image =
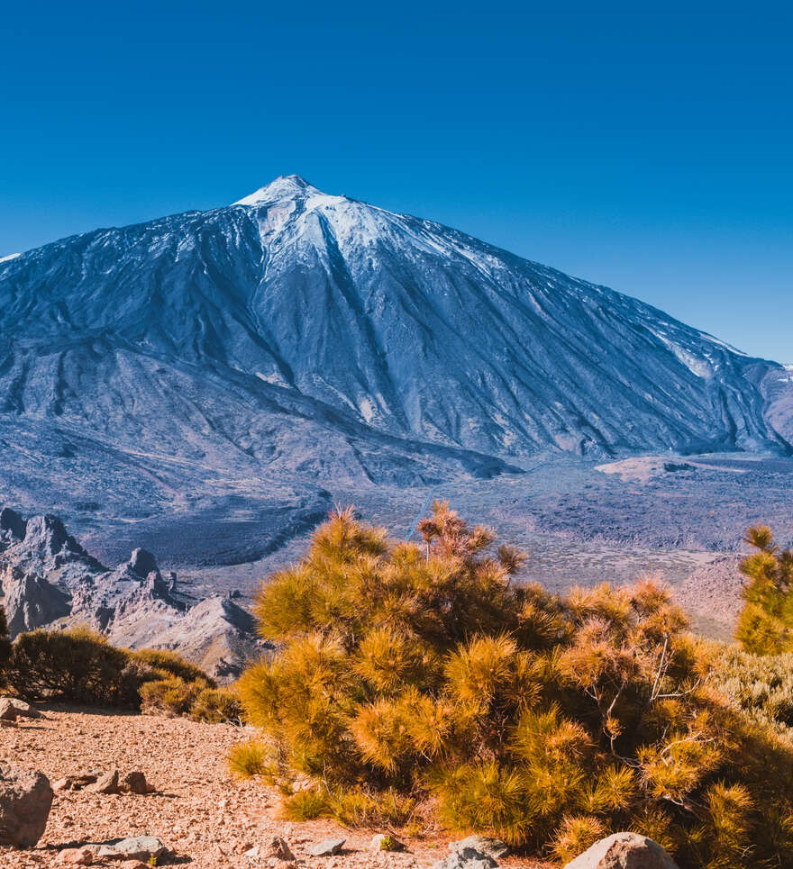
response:
[[[87,770],[117,769],[122,774],[139,770],[153,792],[56,791],[39,845],[28,850],[0,848],[3,869],[62,865],[59,853],[67,847],[139,835],[158,837],[169,848],[170,855],[158,864],[188,864],[196,869],[267,866],[267,859],[251,859],[246,852],[273,837],[287,840],[301,869],[410,869],[430,866],[448,853],[448,839],[406,840],[406,853],[384,853],[369,845],[383,830],[279,819],[277,792],[232,779],[226,771],[229,748],[246,735],[239,728],[65,707],[42,711],[41,719],[0,729],[0,765],[40,770],[53,784]],[[309,855],[327,837],[346,839],[341,855]],[[546,864],[518,857],[499,863],[547,869]],[[285,869],[288,865],[275,860],[271,864]],[[107,865],[119,866],[117,862]]]

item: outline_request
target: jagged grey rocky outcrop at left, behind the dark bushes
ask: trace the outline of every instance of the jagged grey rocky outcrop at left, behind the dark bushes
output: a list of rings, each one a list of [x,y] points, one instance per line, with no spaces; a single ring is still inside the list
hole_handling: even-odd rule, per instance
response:
[[[111,570],[55,516],[0,511],[0,583],[12,637],[87,625],[116,646],[178,651],[220,681],[262,651],[251,614],[231,598],[188,608],[176,575],[164,577],[152,553],[137,548]]]

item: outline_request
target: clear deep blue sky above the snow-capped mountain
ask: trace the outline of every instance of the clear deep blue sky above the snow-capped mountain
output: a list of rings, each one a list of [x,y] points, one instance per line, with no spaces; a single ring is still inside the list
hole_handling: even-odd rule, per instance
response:
[[[789,3],[5,4],[0,256],[296,173],[793,362]]]

